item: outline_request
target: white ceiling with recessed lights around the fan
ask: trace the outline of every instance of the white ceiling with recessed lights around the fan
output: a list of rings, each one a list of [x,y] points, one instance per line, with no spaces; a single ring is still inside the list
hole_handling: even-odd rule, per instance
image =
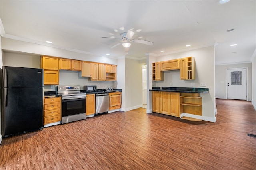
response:
[[[0,6],[2,37],[81,53],[143,59],[145,53],[160,56],[215,44],[216,65],[250,62],[255,55],[255,0],[231,0],[226,4],[217,0],[1,0]],[[122,45],[111,48],[120,43],[117,39],[101,38],[120,38],[122,32],[132,28],[132,38],[143,36],[142,40],[154,44],[132,43],[127,54]],[[227,32],[232,28],[234,31]],[[187,44],[191,46],[185,47]]]

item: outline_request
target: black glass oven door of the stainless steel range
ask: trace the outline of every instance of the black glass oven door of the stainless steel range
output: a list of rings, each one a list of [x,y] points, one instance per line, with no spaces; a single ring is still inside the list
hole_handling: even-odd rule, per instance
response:
[[[86,113],[86,98],[62,100],[62,117]]]

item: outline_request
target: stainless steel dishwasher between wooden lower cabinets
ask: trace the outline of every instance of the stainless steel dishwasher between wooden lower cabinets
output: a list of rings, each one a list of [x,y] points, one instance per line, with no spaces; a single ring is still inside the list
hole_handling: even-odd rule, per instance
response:
[[[108,93],[96,94],[96,113],[95,114],[108,113],[108,106],[109,106],[108,103],[109,103]]]

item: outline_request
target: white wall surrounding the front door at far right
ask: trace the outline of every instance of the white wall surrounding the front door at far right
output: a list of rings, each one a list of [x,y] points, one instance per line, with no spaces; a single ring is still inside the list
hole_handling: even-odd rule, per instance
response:
[[[248,101],[252,99],[252,63],[216,65],[216,98],[227,99],[226,97],[226,69],[248,68]]]

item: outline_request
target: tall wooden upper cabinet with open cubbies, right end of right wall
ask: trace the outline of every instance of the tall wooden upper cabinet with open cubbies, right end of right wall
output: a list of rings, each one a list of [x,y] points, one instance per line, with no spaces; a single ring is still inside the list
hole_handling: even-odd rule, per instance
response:
[[[187,57],[180,59],[180,79],[195,79],[195,58]]]

